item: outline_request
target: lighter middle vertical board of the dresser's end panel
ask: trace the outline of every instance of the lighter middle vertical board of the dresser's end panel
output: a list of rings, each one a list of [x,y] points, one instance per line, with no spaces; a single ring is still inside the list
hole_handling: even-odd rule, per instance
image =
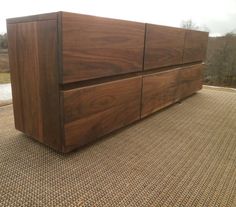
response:
[[[24,132],[42,141],[37,23],[17,24],[17,70],[21,83]]]

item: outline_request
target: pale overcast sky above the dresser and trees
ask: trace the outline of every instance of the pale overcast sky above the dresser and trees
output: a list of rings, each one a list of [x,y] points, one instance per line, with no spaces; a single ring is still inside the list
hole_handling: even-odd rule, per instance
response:
[[[68,11],[180,27],[191,19],[210,36],[236,32],[236,0],[6,0],[0,6],[0,33],[6,19]]]

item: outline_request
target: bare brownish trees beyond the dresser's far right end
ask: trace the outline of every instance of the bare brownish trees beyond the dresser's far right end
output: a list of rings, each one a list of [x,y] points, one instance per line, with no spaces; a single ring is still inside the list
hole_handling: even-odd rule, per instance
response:
[[[236,34],[209,38],[204,82],[236,87]]]

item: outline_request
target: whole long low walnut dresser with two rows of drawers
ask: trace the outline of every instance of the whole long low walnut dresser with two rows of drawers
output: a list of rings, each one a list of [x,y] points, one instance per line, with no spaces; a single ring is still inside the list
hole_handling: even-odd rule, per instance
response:
[[[8,19],[7,32],[15,127],[57,151],[202,87],[206,32],[68,12]]]

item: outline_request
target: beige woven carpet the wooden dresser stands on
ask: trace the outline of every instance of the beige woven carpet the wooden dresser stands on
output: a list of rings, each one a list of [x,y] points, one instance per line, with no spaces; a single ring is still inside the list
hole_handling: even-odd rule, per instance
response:
[[[236,93],[204,89],[63,156],[0,108],[0,206],[236,206]]]

